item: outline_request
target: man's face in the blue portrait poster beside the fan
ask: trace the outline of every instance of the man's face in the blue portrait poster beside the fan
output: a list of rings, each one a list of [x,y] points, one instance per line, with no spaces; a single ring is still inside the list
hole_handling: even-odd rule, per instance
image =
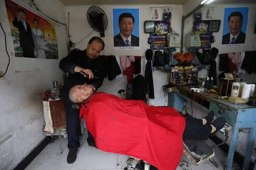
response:
[[[123,36],[130,36],[133,32],[133,19],[132,18],[122,18],[121,22],[118,24],[120,32]]]

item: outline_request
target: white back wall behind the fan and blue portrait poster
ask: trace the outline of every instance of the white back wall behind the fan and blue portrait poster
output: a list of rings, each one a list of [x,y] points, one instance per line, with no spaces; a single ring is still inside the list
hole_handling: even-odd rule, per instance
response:
[[[149,7],[154,5],[140,5],[140,6],[109,6],[103,5],[99,6],[104,10],[108,18],[108,27],[105,30],[105,38],[103,39],[106,43],[105,50],[101,53],[101,55],[138,55],[145,56],[145,51],[149,49],[149,44],[147,43],[147,38],[149,34],[144,33],[144,21],[149,20]],[[155,5],[159,6],[159,5]],[[154,7],[155,7],[154,6]],[[172,19],[173,22],[171,26],[175,32],[181,34],[181,18],[182,18],[182,5],[161,5],[161,6],[170,6],[173,9]],[[68,12],[69,14],[69,33],[72,35],[71,40],[73,42],[79,42],[85,36],[87,36],[93,29],[87,22],[87,10],[90,6],[66,6],[66,18],[68,20]],[[139,8],[140,9],[140,50],[134,51],[115,51],[113,49],[113,25],[112,25],[112,8]],[[88,38],[75,47],[79,49],[85,49],[88,41],[93,36],[99,36],[99,32],[93,32]],[[179,51],[179,49],[177,49]],[[144,57],[141,60],[141,74],[144,76]],[[162,85],[167,84],[167,73],[162,71],[153,71],[153,81],[154,81],[154,91],[155,91],[155,99],[150,100],[150,105],[163,106],[167,105],[165,102],[164,92],[162,90]],[[105,78],[102,87],[99,91],[103,91],[106,93],[110,93],[113,95],[119,96],[117,91],[119,89],[125,89],[127,84],[126,75],[117,83],[114,81],[109,81]]]

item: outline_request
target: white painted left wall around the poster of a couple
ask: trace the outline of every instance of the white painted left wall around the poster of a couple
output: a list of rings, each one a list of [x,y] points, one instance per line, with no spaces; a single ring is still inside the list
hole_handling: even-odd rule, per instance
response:
[[[29,0],[22,0],[29,4]],[[66,22],[65,7],[59,0],[35,0],[49,17]],[[63,81],[58,68],[59,59],[66,56],[67,36],[63,26],[56,26],[59,59],[30,59],[14,57],[14,47],[4,0],[0,0],[0,22],[7,34],[10,66],[0,78],[0,169],[11,170],[33,150],[45,136],[42,135],[44,115],[42,96],[52,87],[52,81]],[[0,30],[0,71],[5,71],[8,56],[4,34]]]

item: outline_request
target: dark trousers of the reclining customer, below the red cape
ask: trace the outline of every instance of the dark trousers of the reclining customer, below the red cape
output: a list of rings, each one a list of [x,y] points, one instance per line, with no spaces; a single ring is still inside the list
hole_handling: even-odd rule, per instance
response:
[[[212,132],[210,125],[203,125],[202,119],[196,119],[189,115],[182,115],[185,117],[185,130],[183,138],[193,140],[207,140]]]

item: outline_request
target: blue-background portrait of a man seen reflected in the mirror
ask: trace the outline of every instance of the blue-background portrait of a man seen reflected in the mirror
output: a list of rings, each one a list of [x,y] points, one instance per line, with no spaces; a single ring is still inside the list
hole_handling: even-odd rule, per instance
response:
[[[249,7],[224,8],[222,46],[242,46],[246,40]]]

